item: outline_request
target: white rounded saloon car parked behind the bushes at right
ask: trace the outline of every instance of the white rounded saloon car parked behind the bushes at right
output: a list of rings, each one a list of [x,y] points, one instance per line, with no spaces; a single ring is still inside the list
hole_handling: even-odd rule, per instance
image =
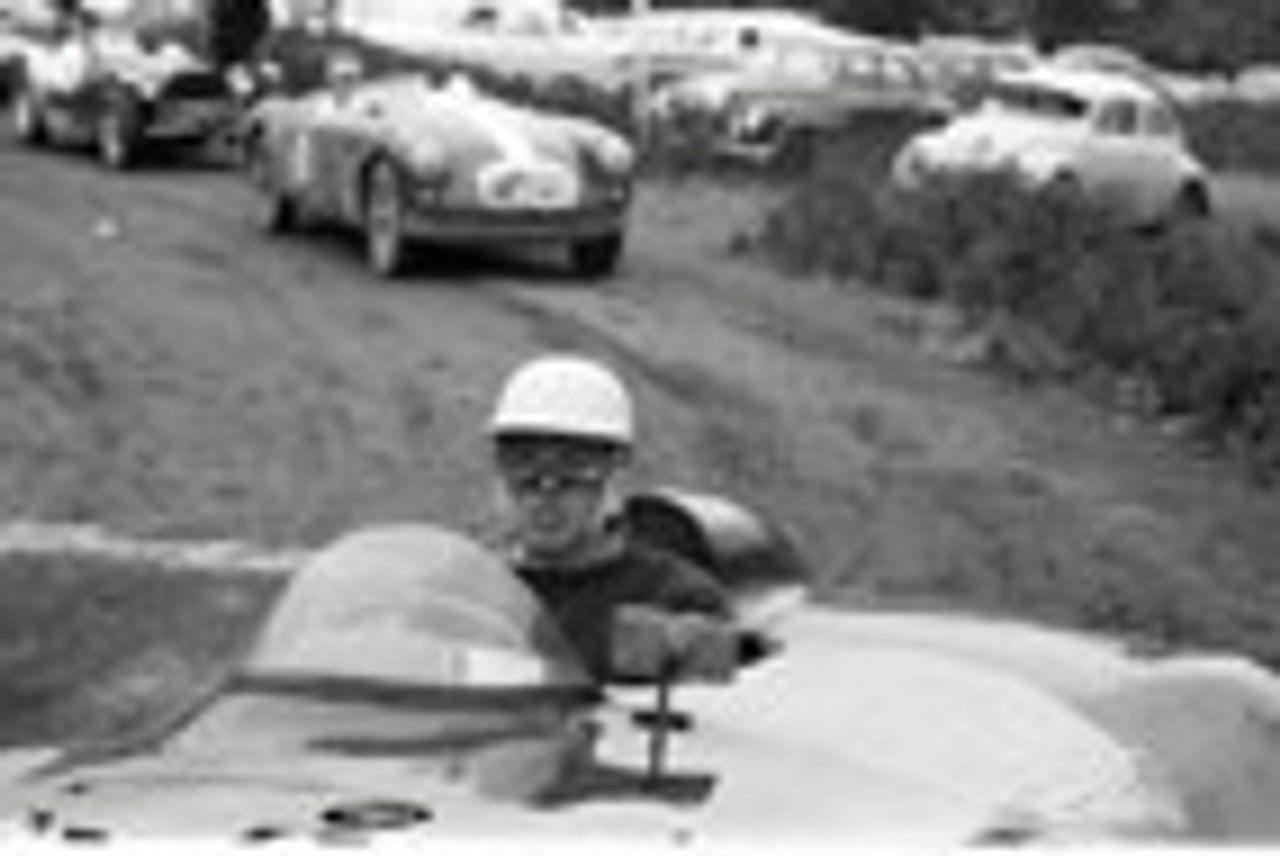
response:
[[[1001,75],[977,110],[911,138],[893,162],[908,188],[997,171],[1033,188],[1078,188],[1142,223],[1212,207],[1208,171],[1169,102],[1114,73],[1042,65]]]

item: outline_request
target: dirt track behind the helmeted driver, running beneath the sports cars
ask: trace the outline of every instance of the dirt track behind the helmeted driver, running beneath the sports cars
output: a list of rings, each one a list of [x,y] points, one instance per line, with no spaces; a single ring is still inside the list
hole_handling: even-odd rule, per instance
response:
[[[832,589],[996,606],[1012,586],[1036,614],[1061,612],[1064,575],[1258,590],[1272,500],[1066,393],[931,357],[920,310],[733,257],[760,200],[646,184],[602,285],[443,252],[387,284],[342,235],[262,234],[227,173],[115,175],[5,138],[0,514],[269,544],[481,530],[490,395],[579,348],[636,386],[640,480],[783,521]]]

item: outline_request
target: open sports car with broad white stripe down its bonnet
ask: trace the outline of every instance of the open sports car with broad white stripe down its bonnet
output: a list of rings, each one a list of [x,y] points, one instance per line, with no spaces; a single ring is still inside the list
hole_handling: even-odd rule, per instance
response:
[[[563,243],[575,273],[593,278],[622,253],[631,146],[462,78],[399,74],[268,99],[246,145],[268,228],[307,216],[361,229],[384,276],[403,270],[415,239]]]

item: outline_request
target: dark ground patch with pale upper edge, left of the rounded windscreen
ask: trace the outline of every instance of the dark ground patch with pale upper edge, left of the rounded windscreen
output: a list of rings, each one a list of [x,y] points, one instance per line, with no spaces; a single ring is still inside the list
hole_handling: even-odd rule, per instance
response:
[[[145,742],[234,669],[305,555],[0,527],[0,747]]]

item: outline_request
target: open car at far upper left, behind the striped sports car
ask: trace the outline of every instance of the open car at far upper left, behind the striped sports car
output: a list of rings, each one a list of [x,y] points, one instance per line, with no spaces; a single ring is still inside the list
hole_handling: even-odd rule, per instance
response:
[[[223,73],[174,41],[111,20],[44,36],[26,44],[10,104],[14,131],[31,145],[87,143],[124,169],[147,147],[202,145],[234,120]]]

